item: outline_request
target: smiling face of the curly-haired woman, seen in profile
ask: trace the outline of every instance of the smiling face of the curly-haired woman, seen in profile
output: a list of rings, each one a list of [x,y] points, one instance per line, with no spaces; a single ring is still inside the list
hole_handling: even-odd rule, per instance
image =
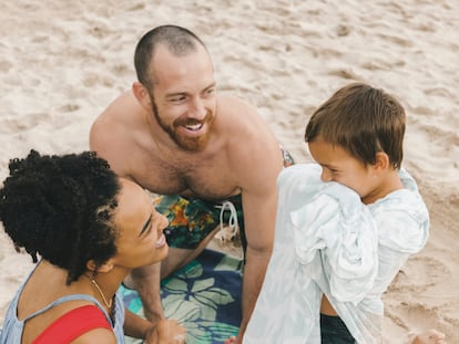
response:
[[[150,196],[136,184],[120,178],[121,191],[114,216],[120,237],[115,241],[113,264],[135,269],[166,258],[169,246],[163,230],[167,219],[159,213]]]

